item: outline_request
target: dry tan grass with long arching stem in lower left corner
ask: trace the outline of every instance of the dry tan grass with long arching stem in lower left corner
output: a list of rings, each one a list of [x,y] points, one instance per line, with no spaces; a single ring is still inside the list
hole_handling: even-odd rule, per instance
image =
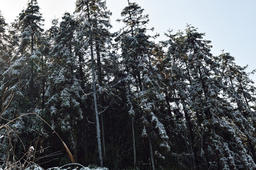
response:
[[[75,159],[73,157],[73,155],[70,152],[70,149],[68,148],[68,146],[65,144],[65,142],[62,140],[62,138],[60,137],[60,135],[58,135],[58,133],[46,122],[46,120],[44,120],[43,118],[41,118],[40,115],[36,114],[36,113],[24,113],[22,115],[19,115],[18,117],[14,118],[13,120],[7,120],[7,123],[4,123],[3,125],[1,125],[1,120],[4,119],[2,116],[4,115],[4,112],[6,111],[6,109],[9,107],[12,99],[14,98],[14,92],[11,91],[11,94],[9,96],[6,97],[6,91],[7,89],[4,91],[4,96],[2,98],[2,104],[1,104],[1,113],[0,113],[0,130],[5,129],[4,135],[0,135],[0,139],[4,138],[2,140],[7,140],[6,143],[9,144],[9,148],[6,148],[6,160],[5,163],[6,167],[5,169],[27,169],[29,166],[34,165],[35,161],[38,161],[41,158],[36,158],[36,153],[41,153],[43,152],[45,149],[47,148],[43,148],[41,147],[40,150],[36,151],[34,149],[33,146],[30,146],[30,148],[28,150],[26,150],[26,146],[23,144],[21,138],[18,136],[18,134],[16,133],[15,130],[13,130],[11,128],[11,124],[15,123],[16,120],[18,120],[19,118],[23,118],[23,117],[28,117],[28,115],[35,115],[36,117],[40,118],[43,123],[45,123],[51,130],[53,130],[53,133],[55,133],[55,135],[58,136],[59,140],[63,143],[63,147],[65,148],[65,151],[68,154],[68,157],[70,159],[70,162],[72,162],[73,164],[75,163]],[[6,119],[4,119],[6,120]],[[23,156],[18,159],[18,161],[16,161],[16,152],[15,152],[15,147],[13,146],[12,142],[11,142],[11,133],[14,134],[17,138],[19,143],[22,145],[23,147]],[[39,140],[39,137],[38,137]],[[37,148],[38,145],[38,140],[36,141],[36,145],[35,147]],[[50,156],[55,156],[58,155],[59,153],[53,153],[51,155],[48,155],[46,157],[50,157]],[[12,157],[12,160],[11,158]],[[45,157],[42,157],[45,158]],[[21,163],[23,162],[23,163]],[[1,168],[0,168],[1,170]]]

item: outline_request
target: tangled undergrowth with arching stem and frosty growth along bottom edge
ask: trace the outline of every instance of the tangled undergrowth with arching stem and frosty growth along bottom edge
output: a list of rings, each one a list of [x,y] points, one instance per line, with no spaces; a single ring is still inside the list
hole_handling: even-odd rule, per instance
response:
[[[7,89],[6,89],[6,91],[7,91]],[[35,162],[37,162],[39,159],[42,159],[42,158],[58,156],[58,154],[60,154],[59,152],[54,152],[53,154],[50,154],[47,156],[36,157],[38,154],[43,153],[45,149],[48,149],[48,147],[43,148],[42,145],[40,145],[40,147],[39,147],[40,149],[37,149],[38,145],[39,145],[38,140],[36,140],[34,145],[25,146],[25,144],[21,140],[21,137],[19,136],[20,134],[18,132],[16,132],[17,130],[15,130],[13,128],[13,125],[15,124],[15,122],[17,122],[21,118],[34,118],[34,117],[39,118],[44,124],[46,124],[53,131],[53,133],[55,133],[55,135],[58,136],[58,139],[62,142],[63,147],[65,148],[65,151],[67,152],[70,162],[72,162],[71,164],[65,164],[63,166],[53,167],[53,168],[50,168],[47,170],[66,170],[66,169],[69,169],[69,170],[75,170],[75,169],[76,170],[107,170],[107,168],[99,168],[96,166],[85,167],[85,166],[82,166],[81,164],[75,163],[75,159],[74,159],[73,155],[71,154],[70,149],[65,144],[65,142],[62,140],[60,135],[58,135],[58,133],[46,122],[46,120],[41,118],[41,116],[38,115],[37,113],[23,113],[21,115],[18,115],[16,118],[14,118],[12,120],[7,120],[7,119],[3,118],[3,115],[6,111],[6,109],[9,107],[9,105],[12,101],[12,98],[14,97],[13,91],[11,91],[11,94],[8,97],[5,97],[6,91],[4,91],[4,97],[1,100],[2,104],[1,104],[1,113],[0,113],[0,152],[5,151],[6,154],[4,154],[5,156],[0,159],[0,170],[9,170],[9,169],[44,170],[41,166],[39,166]],[[33,116],[31,117],[29,115],[33,115]],[[1,121],[1,120],[4,120],[4,122],[6,122],[6,123],[2,123],[3,121]],[[21,157],[17,156],[16,147],[14,145],[14,138],[16,138],[16,140],[17,140],[16,142],[18,142],[22,146],[23,154],[21,154]],[[29,147],[29,149],[26,150],[26,148],[28,148],[28,147]]]

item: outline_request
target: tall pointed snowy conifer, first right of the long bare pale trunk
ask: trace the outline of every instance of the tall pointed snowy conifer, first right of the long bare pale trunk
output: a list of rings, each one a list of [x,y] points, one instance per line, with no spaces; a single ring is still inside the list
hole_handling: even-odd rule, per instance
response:
[[[123,18],[119,20],[125,24],[119,37],[122,64],[126,74],[127,105],[130,107],[128,112],[132,118],[134,168],[137,162],[134,117],[139,115],[144,126],[142,135],[147,136],[149,140],[151,167],[155,169],[152,143],[160,139],[159,146],[169,150],[169,137],[161,119],[158,118],[161,117],[159,106],[165,101],[163,91],[159,89],[161,76],[157,74],[158,71],[152,64],[154,62],[152,50],[155,45],[149,40],[150,36],[146,35],[146,23],[149,22],[149,18],[143,15],[143,11],[144,9],[138,4],[128,1],[128,6],[121,13]]]

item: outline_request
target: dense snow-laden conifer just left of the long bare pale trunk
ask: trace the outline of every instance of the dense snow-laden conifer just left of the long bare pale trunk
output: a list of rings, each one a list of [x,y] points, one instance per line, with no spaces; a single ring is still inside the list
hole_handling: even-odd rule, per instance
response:
[[[70,146],[78,159],[78,121],[83,118],[82,88],[76,78],[78,61],[74,55],[74,32],[78,24],[65,13],[50,52],[46,90],[46,118],[56,130],[69,132]]]

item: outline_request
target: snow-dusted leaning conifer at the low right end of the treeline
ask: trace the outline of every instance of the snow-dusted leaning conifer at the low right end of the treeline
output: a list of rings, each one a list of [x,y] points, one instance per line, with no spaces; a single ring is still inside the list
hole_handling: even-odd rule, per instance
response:
[[[218,57],[220,60],[221,77],[225,88],[223,95],[229,99],[233,105],[234,122],[238,126],[240,132],[246,137],[247,141],[244,145],[248,145],[248,150],[252,154],[255,162],[255,118],[252,103],[255,102],[255,86],[249,78],[249,74],[245,72],[246,67],[240,67],[235,64],[234,57],[228,53],[223,53]]]

